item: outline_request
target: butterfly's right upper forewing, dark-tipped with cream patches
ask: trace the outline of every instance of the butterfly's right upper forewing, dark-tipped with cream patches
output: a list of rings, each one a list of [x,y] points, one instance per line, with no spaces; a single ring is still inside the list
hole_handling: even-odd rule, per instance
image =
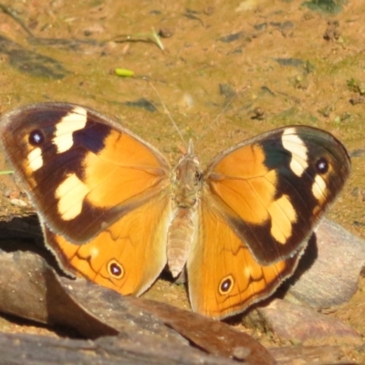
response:
[[[303,248],[349,170],[349,155],[331,134],[293,126],[217,155],[204,183],[225,223],[259,264],[271,265]]]

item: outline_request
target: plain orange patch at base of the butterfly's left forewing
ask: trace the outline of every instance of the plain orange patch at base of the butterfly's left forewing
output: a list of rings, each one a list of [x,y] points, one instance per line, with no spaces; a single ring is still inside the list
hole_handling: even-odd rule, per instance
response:
[[[147,193],[162,180],[169,183],[166,170],[151,149],[116,130],[110,132],[98,154],[87,154],[83,166],[89,187],[87,199],[100,207],[113,207]]]

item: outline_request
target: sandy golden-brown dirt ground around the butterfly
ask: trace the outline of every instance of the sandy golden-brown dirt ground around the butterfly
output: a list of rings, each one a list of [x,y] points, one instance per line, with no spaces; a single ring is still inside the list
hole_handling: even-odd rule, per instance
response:
[[[37,0],[1,5],[1,113],[36,101],[84,104],[120,120],[173,164],[183,142],[143,80],[146,76],[185,140],[193,139],[203,164],[265,130],[289,124],[323,128],[343,141],[352,156],[349,183],[328,217],[365,238],[362,1],[338,1],[329,6],[332,13],[309,9],[301,1]],[[162,35],[160,47],[151,40],[153,29]],[[115,68],[128,68],[135,77],[118,77]],[[0,156],[0,170],[8,168]],[[19,211],[9,203],[15,190],[10,177],[0,176],[3,218]],[[189,308],[183,287],[163,280],[148,296]],[[352,300],[328,315],[365,336],[364,314],[361,277]],[[14,321],[2,323],[2,330],[33,330]],[[365,362],[363,352],[350,356]]]

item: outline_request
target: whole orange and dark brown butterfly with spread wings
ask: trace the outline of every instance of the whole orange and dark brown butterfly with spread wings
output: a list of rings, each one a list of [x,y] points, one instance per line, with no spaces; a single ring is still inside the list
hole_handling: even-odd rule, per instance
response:
[[[345,147],[324,130],[270,130],[205,170],[89,108],[38,103],[0,120],[7,158],[68,273],[140,296],[165,266],[187,274],[194,311],[240,313],[292,275],[346,182]]]

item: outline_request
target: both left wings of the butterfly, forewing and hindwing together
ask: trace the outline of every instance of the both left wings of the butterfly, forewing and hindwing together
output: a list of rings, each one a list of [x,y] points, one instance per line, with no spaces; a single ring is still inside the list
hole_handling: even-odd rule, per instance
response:
[[[150,287],[166,264],[172,219],[162,154],[98,112],[64,103],[15,110],[0,135],[62,266],[123,294]]]

